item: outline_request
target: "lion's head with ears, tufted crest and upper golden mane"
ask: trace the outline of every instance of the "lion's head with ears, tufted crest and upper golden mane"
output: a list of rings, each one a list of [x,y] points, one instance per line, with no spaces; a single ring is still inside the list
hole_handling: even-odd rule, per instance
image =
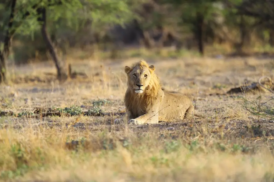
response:
[[[155,67],[149,66],[143,59],[132,68],[125,66],[125,73],[128,75],[128,89],[136,94],[151,91],[155,86],[158,90],[160,83],[154,71]]]

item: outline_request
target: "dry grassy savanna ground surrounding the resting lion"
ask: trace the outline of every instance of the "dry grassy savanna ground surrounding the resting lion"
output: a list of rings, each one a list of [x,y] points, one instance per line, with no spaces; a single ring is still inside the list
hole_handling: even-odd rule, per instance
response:
[[[62,84],[54,81],[51,62],[9,67],[13,82],[1,86],[0,109],[16,114],[0,118],[1,180],[274,180],[274,123],[243,104],[258,95],[212,95],[273,76],[272,59],[146,59],[163,87],[192,96],[206,119],[125,126],[113,125],[119,116],[81,115],[123,110],[124,67],[139,59],[73,60],[72,69],[87,78]],[[261,102],[265,96],[271,94]],[[62,115],[42,117],[37,107]]]

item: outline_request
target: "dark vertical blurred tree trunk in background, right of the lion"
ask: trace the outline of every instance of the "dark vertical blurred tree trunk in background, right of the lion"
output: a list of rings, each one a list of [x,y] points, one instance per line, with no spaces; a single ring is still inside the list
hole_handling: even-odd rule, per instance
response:
[[[203,42],[203,28],[204,28],[204,16],[201,13],[196,15],[196,29],[197,29],[197,40],[198,40],[198,49],[200,54],[204,55],[204,42]]]

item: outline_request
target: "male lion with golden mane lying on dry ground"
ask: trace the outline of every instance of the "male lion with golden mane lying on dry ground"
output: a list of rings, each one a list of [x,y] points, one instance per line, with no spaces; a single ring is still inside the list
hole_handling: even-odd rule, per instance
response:
[[[133,65],[125,66],[128,75],[128,89],[125,93],[126,113],[114,124],[128,121],[128,124],[158,123],[170,119],[190,116],[205,117],[194,110],[191,99],[181,93],[170,93],[161,89],[155,67],[143,59]]]

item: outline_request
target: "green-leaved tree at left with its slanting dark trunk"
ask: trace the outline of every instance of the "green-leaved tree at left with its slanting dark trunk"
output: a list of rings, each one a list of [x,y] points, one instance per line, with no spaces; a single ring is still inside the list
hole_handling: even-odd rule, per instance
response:
[[[6,30],[1,50],[1,80],[5,80],[5,59],[9,55],[11,37],[16,34],[32,34],[40,29],[47,49],[57,69],[60,80],[68,78],[67,69],[58,59],[47,32],[47,21],[58,22],[67,19],[71,26],[79,26],[79,19],[91,21],[92,26],[112,26],[123,24],[134,18],[132,9],[138,2],[134,0],[22,0],[4,1],[0,8],[10,10],[9,18],[2,22],[1,32]],[[4,8],[2,8],[4,9]]]

